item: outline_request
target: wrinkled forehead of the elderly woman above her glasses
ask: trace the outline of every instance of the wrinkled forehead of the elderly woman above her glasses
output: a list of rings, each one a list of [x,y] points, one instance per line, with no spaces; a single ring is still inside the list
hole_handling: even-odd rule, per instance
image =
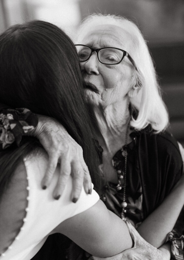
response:
[[[90,31],[82,33],[80,44],[93,48],[116,47],[130,51],[132,47],[132,35],[128,30],[117,25],[99,25],[92,27]]]

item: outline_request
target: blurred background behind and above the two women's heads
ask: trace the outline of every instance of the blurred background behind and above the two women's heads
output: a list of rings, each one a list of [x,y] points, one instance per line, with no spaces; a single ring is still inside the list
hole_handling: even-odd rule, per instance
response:
[[[73,37],[81,19],[93,12],[122,15],[138,25],[155,62],[171,132],[184,145],[183,0],[0,0],[0,31],[42,19]]]

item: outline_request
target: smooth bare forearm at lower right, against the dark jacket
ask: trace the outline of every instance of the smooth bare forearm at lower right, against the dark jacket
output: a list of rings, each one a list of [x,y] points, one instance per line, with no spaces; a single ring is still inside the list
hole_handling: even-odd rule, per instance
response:
[[[184,176],[175,185],[162,204],[138,227],[139,234],[150,244],[159,248],[174,228],[184,205]]]

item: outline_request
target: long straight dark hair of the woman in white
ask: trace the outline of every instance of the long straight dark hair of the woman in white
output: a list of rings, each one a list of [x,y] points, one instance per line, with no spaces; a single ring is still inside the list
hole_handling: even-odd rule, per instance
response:
[[[98,186],[98,160],[78,56],[60,28],[34,20],[13,25],[0,35],[0,102],[57,119],[83,148]],[[35,139],[24,138],[21,147],[12,145],[0,153],[0,191],[23,156],[37,146]]]

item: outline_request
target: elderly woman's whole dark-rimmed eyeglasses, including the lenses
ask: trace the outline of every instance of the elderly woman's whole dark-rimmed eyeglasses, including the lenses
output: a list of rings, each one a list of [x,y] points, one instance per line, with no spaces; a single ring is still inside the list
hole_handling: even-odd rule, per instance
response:
[[[125,50],[114,48],[114,47],[105,47],[105,48],[97,49],[97,48],[91,48],[84,44],[75,44],[75,46],[77,48],[77,53],[80,62],[89,60],[93,52],[96,51],[98,60],[102,64],[106,64],[106,65],[119,64],[126,56],[133,64],[134,68],[137,70],[134,60]]]

